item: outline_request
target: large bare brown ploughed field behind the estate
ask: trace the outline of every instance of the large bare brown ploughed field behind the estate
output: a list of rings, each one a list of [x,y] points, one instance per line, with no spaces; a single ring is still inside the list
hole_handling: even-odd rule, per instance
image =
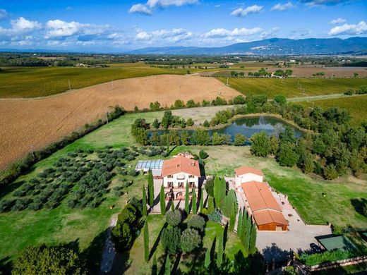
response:
[[[107,82],[41,99],[0,99],[0,168],[29,152],[44,147],[96,119],[104,119],[109,106],[126,110],[149,107],[158,101],[170,106],[176,99],[187,102],[236,97],[239,92],[214,78],[189,75],[157,75]]]

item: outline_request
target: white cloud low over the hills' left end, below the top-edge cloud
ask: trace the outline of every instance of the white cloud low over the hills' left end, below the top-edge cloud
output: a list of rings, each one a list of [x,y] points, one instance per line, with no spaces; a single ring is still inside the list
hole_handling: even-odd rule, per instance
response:
[[[135,39],[137,41],[146,42],[162,42],[162,40],[170,43],[181,42],[183,40],[191,39],[193,32],[185,29],[172,29],[172,30],[155,30],[153,32],[145,32],[140,30]]]

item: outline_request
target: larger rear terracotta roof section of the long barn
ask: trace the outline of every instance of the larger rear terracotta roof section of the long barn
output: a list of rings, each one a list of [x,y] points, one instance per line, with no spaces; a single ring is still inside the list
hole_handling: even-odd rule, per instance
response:
[[[248,204],[250,204],[252,212],[262,209],[282,211],[275,200],[275,197],[272,195],[270,189],[265,183],[249,181],[248,183],[242,183],[241,187],[243,189],[243,193],[246,195]]]

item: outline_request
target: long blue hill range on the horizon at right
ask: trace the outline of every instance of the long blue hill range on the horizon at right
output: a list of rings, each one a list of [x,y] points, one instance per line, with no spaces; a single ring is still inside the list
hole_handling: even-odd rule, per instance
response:
[[[236,43],[226,47],[149,47],[128,54],[172,55],[299,55],[299,54],[360,54],[367,51],[367,37],[287,39],[270,38]]]

